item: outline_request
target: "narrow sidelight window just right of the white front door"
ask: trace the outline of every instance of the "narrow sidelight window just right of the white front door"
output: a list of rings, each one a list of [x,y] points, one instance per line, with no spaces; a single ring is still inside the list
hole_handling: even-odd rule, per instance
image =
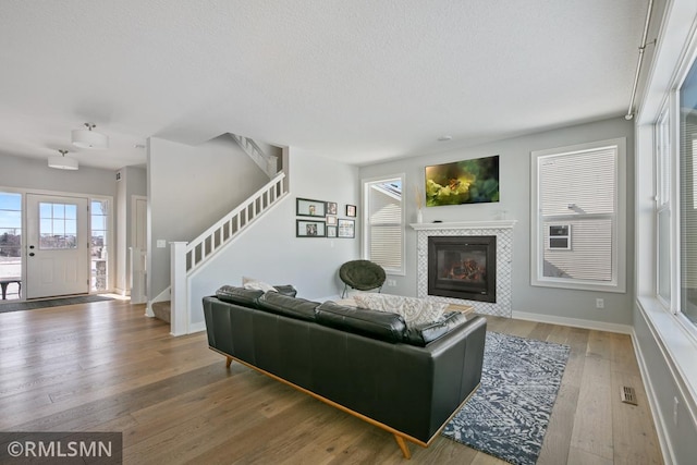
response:
[[[109,289],[109,201],[90,201],[90,268],[91,290],[107,291]]]

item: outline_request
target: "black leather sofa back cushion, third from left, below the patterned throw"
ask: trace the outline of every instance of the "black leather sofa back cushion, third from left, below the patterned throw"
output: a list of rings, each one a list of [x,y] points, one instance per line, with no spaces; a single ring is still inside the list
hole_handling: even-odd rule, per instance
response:
[[[396,314],[325,302],[316,309],[317,322],[387,342],[402,342],[406,323]]]

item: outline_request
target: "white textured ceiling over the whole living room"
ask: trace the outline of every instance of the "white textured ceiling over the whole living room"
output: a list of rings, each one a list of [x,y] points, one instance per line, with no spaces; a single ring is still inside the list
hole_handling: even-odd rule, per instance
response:
[[[622,115],[646,8],[2,0],[0,152],[118,169],[231,132],[364,164]],[[87,121],[109,150],[71,147]]]

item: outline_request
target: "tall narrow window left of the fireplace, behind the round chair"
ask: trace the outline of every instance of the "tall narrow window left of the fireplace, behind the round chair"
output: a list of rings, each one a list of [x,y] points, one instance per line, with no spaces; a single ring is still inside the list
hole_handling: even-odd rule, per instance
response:
[[[364,182],[364,256],[404,274],[404,175]]]

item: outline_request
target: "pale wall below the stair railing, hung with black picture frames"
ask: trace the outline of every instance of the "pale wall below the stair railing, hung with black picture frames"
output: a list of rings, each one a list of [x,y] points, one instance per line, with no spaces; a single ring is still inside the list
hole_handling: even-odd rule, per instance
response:
[[[339,212],[359,197],[358,168],[290,149],[291,194],[197,271],[189,292],[192,326],[203,325],[201,298],[243,277],[293,284],[298,296],[322,301],[340,294],[339,267],[358,257],[359,240],[295,236],[295,199],[338,203]],[[343,217],[343,215],[340,215]],[[358,231],[358,227],[356,228]]]

